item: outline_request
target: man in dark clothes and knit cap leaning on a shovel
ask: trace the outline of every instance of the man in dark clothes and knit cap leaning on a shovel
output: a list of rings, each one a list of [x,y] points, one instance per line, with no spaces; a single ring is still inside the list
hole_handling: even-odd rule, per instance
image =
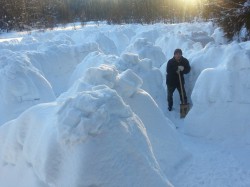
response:
[[[187,74],[190,72],[190,65],[189,61],[182,56],[182,50],[176,49],[174,51],[174,57],[168,61],[167,64],[167,88],[168,88],[168,110],[171,111],[173,108],[173,93],[175,89],[177,88],[180,100],[182,104],[187,103],[187,95],[184,88],[184,77],[183,74]],[[181,97],[181,86],[180,86],[180,80],[179,80],[179,73],[181,77],[182,82],[182,88],[183,88],[183,96],[184,101],[182,101]]]

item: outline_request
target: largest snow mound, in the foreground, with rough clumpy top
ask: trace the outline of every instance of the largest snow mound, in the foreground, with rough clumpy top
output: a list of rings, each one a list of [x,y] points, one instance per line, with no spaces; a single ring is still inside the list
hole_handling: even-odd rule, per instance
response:
[[[143,123],[105,86],[37,105],[0,134],[2,162],[18,173],[25,159],[43,186],[171,186]]]

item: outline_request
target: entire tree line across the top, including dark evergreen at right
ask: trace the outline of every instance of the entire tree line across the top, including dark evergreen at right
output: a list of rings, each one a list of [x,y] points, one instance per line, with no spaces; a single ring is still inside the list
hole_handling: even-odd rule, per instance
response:
[[[58,24],[88,21],[107,21],[109,24],[178,23],[199,18],[215,21],[222,26],[227,37],[233,38],[243,27],[250,30],[248,2],[197,0],[191,4],[185,0],[1,0],[0,30],[45,29]]]

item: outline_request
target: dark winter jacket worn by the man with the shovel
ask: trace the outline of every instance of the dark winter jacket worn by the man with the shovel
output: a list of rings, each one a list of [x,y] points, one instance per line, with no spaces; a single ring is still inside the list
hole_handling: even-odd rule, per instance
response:
[[[177,85],[179,85],[179,75],[176,73],[176,71],[178,70],[178,66],[183,66],[184,67],[184,70],[180,72],[180,75],[181,75],[182,84],[185,83],[183,74],[187,74],[191,70],[191,67],[189,65],[189,61],[184,57],[181,57],[179,62],[177,62],[175,60],[175,58],[172,58],[172,59],[170,59],[168,61],[168,64],[167,64],[167,80],[166,80],[166,83],[167,83],[168,86],[177,86]]]

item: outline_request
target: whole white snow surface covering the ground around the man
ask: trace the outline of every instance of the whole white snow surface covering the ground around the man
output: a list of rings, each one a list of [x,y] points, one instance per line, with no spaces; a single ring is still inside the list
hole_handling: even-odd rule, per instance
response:
[[[191,110],[166,64],[190,61]],[[210,22],[0,35],[3,187],[250,186],[250,42]]]

